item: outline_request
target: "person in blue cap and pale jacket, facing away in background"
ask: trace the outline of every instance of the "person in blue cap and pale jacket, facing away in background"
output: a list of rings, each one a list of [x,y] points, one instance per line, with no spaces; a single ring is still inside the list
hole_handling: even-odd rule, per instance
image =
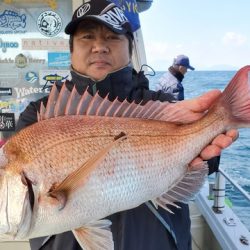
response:
[[[189,58],[185,55],[177,56],[174,58],[173,65],[168,68],[156,85],[156,90],[172,94],[178,101],[184,100],[184,88],[181,82],[188,69],[194,70],[189,63]]]

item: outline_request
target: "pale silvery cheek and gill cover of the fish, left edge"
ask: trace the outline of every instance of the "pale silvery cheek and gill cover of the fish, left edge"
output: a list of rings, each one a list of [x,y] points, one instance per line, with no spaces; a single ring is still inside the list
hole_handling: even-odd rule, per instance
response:
[[[31,225],[32,205],[29,186],[22,173],[9,171],[10,163],[4,159],[3,151],[0,153],[1,156],[0,240],[22,239]]]

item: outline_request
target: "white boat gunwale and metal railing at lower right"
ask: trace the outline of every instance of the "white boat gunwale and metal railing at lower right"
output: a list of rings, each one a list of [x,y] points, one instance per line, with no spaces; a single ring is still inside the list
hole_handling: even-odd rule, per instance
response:
[[[226,205],[226,180],[245,198],[250,195],[222,169],[215,173],[215,179],[209,180],[195,199],[199,211],[204,216],[221,248],[249,249],[250,232],[233,210]],[[209,192],[209,194],[208,194]]]

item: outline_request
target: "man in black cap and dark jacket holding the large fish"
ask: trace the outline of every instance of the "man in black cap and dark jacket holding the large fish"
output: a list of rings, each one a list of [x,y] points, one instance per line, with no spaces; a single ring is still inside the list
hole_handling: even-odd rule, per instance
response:
[[[108,16],[115,18],[115,22],[114,20],[111,22]],[[122,9],[115,4],[107,0],[88,1],[76,9],[65,32],[70,35],[72,80],[65,83],[70,91],[74,86],[80,94],[86,89],[91,95],[98,91],[102,97],[109,94],[111,101],[116,98],[120,101],[127,99],[129,102],[137,103],[146,103],[149,100],[169,102],[174,100],[168,93],[149,90],[149,82],[144,73],[136,72],[131,66],[133,33]],[[57,87],[60,89],[61,84]],[[197,115],[198,119],[218,95],[220,95],[219,91],[213,91],[202,97],[174,105],[179,105],[179,108]],[[20,115],[18,130],[37,122],[37,112],[41,102],[46,105],[47,97],[28,105]],[[210,172],[215,171],[218,167],[215,156],[229,146],[237,135],[236,130],[219,135],[190,164],[195,165],[203,160],[209,160]],[[128,211],[110,215],[108,219],[112,222],[114,249],[190,250],[189,212],[187,205],[182,203],[178,205],[180,209],[171,207],[174,214],[159,208],[155,209],[157,213],[155,216],[147,204],[142,204]],[[165,223],[162,223],[162,220]],[[166,227],[165,224],[168,226]],[[71,231],[31,239],[30,244],[32,250],[81,249]]]

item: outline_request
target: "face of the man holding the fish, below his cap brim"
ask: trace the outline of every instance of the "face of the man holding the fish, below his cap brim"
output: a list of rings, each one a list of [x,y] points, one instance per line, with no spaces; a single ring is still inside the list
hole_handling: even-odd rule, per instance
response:
[[[71,63],[79,73],[101,80],[130,61],[128,39],[106,26],[83,21],[73,36]]]

